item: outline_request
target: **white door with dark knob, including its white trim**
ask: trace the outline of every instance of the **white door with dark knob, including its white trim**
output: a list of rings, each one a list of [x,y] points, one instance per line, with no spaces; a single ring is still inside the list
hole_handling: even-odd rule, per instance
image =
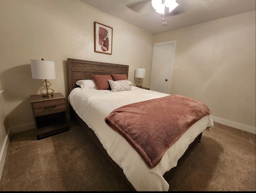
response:
[[[176,40],[154,44],[150,90],[170,94]]]

